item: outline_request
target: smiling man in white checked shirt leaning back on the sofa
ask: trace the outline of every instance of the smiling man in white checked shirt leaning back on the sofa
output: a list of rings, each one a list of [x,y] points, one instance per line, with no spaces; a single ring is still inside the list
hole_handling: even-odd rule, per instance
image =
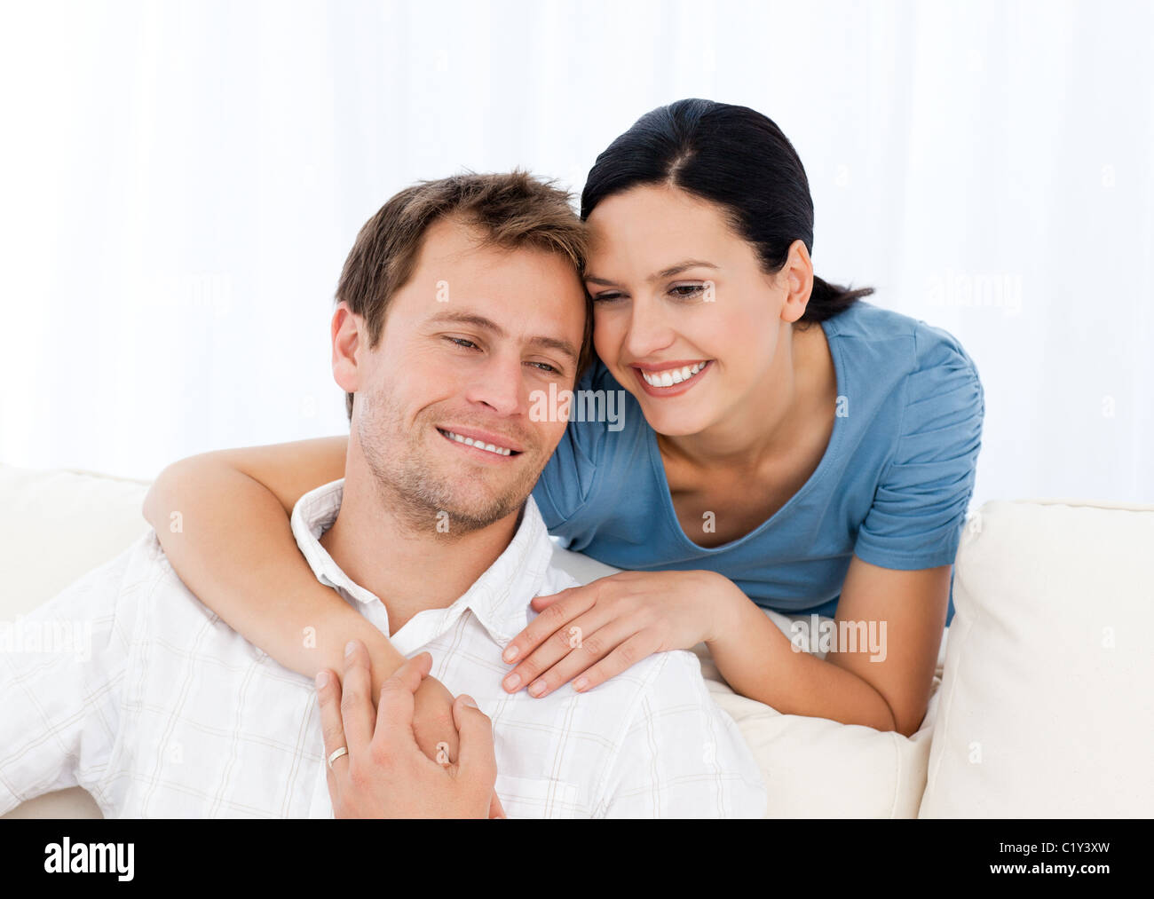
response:
[[[338,298],[362,300],[332,319],[345,479],[302,496],[292,527],[317,578],[410,658],[373,742],[362,646],[322,737],[313,683],[205,608],[150,533],[36,613],[91,620],[89,660],[0,661],[0,812],[78,784],[128,817],[329,816],[330,786],[342,814],[484,816],[493,788],[510,817],[764,814],[757,765],[689,652],[587,694],[501,688],[530,600],[574,585],[530,496],[565,422],[527,414],[532,391],[571,388],[589,352],[567,200],[523,173],[425,182],[366,224],[345,264]],[[437,804],[430,785],[449,774],[432,762],[399,781],[404,769],[380,764],[405,750],[428,762],[406,725],[430,666],[460,694],[460,759],[444,761],[475,780],[496,772],[464,804]],[[339,786],[353,781],[357,808]]]

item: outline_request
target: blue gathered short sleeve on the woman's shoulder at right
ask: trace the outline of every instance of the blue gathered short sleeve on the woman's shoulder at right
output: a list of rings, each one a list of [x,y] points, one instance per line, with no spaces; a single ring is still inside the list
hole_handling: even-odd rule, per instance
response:
[[[974,492],[986,397],[958,340],[922,322],[893,454],[854,555],[912,571],[952,564]]]

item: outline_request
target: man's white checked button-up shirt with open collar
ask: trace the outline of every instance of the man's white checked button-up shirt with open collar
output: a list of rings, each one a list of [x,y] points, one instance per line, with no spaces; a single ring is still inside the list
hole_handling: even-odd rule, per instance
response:
[[[302,496],[293,533],[317,579],[388,634],[384,605],[317,539],[343,487]],[[585,694],[502,689],[511,666],[501,652],[535,616],[530,600],[576,584],[552,549],[530,497],[473,586],[391,637],[406,657],[432,653],[433,676],[493,719],[509,817],[762,817],[758,766],[690,652],[651,655]],[[201,604],[155,533],[22,624],[61,621],[90,622],[88,658],[72,647],[0,654],[0,814],[78,785],[105,817],[331,817],[312,680]]]

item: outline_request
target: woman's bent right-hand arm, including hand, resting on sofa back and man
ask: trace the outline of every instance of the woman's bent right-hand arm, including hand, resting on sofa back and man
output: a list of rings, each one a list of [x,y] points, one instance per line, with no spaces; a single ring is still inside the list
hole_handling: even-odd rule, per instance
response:
[[[654,652],[704,642],[726,682],[782,714],[914,734],[926,716],[945,625],[950,565],[896,571],[854,556],[834,624],[850,645],[800,652],[714,571],[622,571],[537,597],[505,647],[505,690],[593,689]],[[816,638],[818,635],[811,635]]]

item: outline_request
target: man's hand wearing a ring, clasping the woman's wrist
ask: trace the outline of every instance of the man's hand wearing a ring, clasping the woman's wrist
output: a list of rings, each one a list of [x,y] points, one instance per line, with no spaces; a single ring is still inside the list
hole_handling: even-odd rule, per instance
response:
[[[460,755],[449,756],[447,764],[430,761],[417,744],[415,694],[432,665],[427,652],[402,665],[384,682],[375,721],[364,644],[353,642],[343,686],[332,672],[317,675],[324,755],[330,758],[342,748],[347,750],[327,772],[336,817],[488,817],[496,780],[488,716],[470,697],[457,697],[451,711]]]

